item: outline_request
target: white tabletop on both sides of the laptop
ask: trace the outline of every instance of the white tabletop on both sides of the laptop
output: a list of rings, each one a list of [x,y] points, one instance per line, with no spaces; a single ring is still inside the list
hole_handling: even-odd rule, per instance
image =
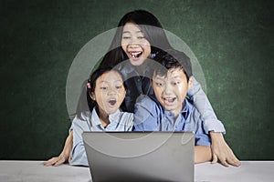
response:
[[[43,161],[0,161],[0,182],[91,182],[88,167],[45,167]],[[195,182],[274,181],[274,161],[242,161],[241,167],[195,165]]]

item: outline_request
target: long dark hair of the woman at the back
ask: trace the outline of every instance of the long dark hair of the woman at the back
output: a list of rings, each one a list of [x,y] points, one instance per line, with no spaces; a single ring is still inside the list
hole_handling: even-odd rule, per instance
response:
[[[150,12],[145,10],[135,10],[123,15],[121,18],[116,33],[111,42],[109,52],[103,57],[100,67],[117,66],[121,61],[127,60],[128,56],[121,48],[122,29],[126,23],[134,23],[139,25],[142,33],[152,48],[152,55],[157,54],[159,49],[172,49],[167,37],[163,31],[163,26],[159,20]],[[113,60],[110,63],[110,60]]]

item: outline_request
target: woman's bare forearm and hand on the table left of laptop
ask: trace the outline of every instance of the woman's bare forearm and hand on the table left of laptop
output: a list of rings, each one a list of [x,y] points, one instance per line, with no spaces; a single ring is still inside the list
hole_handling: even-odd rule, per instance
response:
[[[58,157],[52,157],[44,162],[46,167],[55,166],[58,167],[61,164],[69,162],[71,160],[71,149],[73,146],[73,131],[71,131],[66,139],[63,151]]]

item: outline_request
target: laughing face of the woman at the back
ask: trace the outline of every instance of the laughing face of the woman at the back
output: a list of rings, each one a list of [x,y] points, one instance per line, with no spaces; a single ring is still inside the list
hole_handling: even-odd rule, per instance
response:
[[[140,27],[133,23],[123,26],[121,35],[122,50],[129,57],[132,66],[141,66],[151,55],[151,45],[142,33]]]

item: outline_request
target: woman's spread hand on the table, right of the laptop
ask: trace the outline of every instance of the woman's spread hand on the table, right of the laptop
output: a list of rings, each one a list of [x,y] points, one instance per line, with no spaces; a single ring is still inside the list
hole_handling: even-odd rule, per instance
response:
[[[225,167],[229,167],[229,164],[235,167],[241,165],[231,148],[228,147],[222,133],[210,132],[210,137],[212,141],[212,164],[216,164],[217,159],[219,159]]]

